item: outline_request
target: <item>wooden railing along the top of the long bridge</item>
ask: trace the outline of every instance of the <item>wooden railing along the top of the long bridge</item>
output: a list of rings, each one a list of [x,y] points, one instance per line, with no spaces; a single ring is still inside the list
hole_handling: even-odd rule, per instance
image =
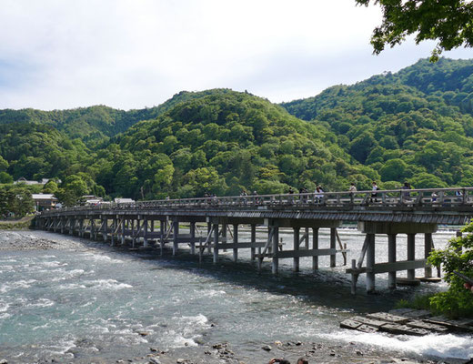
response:
[[[338,191],[323,193],[249,195],[230,197],[192,197],[137,201],[134,203],[102,203],[97,206],[65,207],[62,211],[90,209],[140,208],[265,208],[265,207],[473,207],[473,187]],[[47,215],[45,211],[45,215]]]

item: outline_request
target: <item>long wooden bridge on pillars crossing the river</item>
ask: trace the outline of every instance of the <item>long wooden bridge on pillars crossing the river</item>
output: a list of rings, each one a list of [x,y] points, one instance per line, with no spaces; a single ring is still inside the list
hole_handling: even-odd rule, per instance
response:
[[[200,258],[206,251],[211,252],[214,262],[218,260],[219,249],[233,249],[237,261],[238,249],[249,248],[258,268],[265,258],[270,258],[272,271],[277,274],[281,258],[292,258],[296,271],[302,257],[312,257],[314,269],[318,268],[320,256],[329,256],[330,267],[335,267],[337,253],[342,254],[347,264],[347,249],[337,239],[337,227],[343,222],[357,222],[366,238],[360,258],[352,261],[347,273],[352,274],[353,291],[357,275],[366,273],[367,291],[371,292],[377,273],[388,273],[389,288],[396,287],[398,270],[407,270],[408,279],[414,280],[415,269],[425,268],[426,278],[432,277],[431,268],[426,265],[433,246],[432,233],[437,231],[438,225],[460,226],[472,217],[473,187],[456,187],[103,203],[44,211],[36,217],[35,226],[79,237],[101,238],[111,245],[129,243],[133,247],[160,248],[161,252],[166,244],[172,244],[173,255],[177,254],[179,244],[186,244],[191,253],[197,251]],[[156,222],[159,222],[158,229]],[[204,234],[196,234],[196,223],[206,223]],[[179,226],[186,224],[189,224],[189,233],[181,234]],[[239,240],[241,225],[251,228],[249,241]],[[265,241],[257,241],[257,226],[267,228]],[[292,250],[281,250],[280,227],[293,228]],[[318,229],[321,227],[330,228],[330,243],[326,248],[319,247]],[[227,237],[227,231],[231,238]],[[375,263],[377,234],[387,234],[388,261],[384,263]],[[408,236],[407,260],[396,258],[398,234]],[[415,257],[417,234],[425,235],[422,258]]]

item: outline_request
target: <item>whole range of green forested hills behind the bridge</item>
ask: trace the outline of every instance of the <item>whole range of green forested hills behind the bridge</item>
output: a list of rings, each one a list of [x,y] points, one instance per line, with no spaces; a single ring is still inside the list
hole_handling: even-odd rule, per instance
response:
[[[0,110],[0,184],[57,177],[68,204],[91,193],[282,193],[371,180],[473,186],[471,150],[472,60],[420,60],[281,106],[214,89],[143,110]]]

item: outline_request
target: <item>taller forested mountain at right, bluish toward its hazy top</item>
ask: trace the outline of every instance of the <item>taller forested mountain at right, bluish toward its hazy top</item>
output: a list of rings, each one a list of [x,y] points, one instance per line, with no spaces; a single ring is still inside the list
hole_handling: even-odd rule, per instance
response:
[[[473,186],[473,60],[420,60],[282,106],[327,127],[385,186]]]

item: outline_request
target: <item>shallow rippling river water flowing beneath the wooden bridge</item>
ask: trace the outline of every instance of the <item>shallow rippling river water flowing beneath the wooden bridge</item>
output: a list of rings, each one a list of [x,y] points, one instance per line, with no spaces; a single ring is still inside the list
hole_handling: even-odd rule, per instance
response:
[[[350,249],[348,262],[358,258],[363,235],[353,228],[339,229],[339,235]],[[454,235],[439,231],[435,246],[442,248]],[[245,231],[239,236],[249,239]],[[283,230],[280,238],[290,248],[292,233]],[[257,239],[266,234],[258,232]],[[328,247],[328,240],[329,230],[321,229],[320,247]],[[399,260],[406,258],[406,245],[398,236]],[[417,257],[422,254],[418,244]],[[283,259],[277,277],[269,263],[258,273],[249,251],[238,256],[239,263],[231,262],[229,250],[216,265],[210,256],[199,264],[186,248],[177,258],[169,251],[159,257],[42,231],[0,231],[0,359],[147,363],[146,355],[157,352],[161,363],[267,363],[275,356],[295,362],[307,350],[311,363],[473,357],[468,335],[394,337],[339,329],[342,319],[388,310],[401,298],[445,289],[444,283],[391,292],[381,275],[377,294],[367,295],[360,277],[352,296],[340,256],[333,269],[320,258],[315,273],[311,258],[301,258],[298,274],[291,271],[292,259]],[[377,261],[387,261],[387,238],[381,236]],[[225,355],[219,343],[226,343]]]

